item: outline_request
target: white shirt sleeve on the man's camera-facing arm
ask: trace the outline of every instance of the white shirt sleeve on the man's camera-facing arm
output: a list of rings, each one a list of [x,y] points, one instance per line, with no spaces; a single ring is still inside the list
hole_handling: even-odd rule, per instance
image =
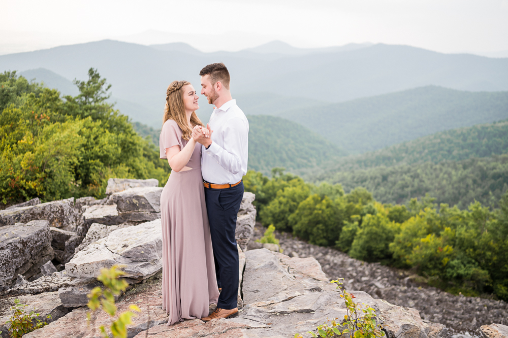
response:
[[[208,156],[212,156],[217,163],[232,174],[238,174],[242,170],[242,154],[247,144],[248,131],[244,121],[240,118],[232,118],[228,121],[227,127],[221,132],[224,138],[224,148],[216,142],[212,142],[205,150]]]

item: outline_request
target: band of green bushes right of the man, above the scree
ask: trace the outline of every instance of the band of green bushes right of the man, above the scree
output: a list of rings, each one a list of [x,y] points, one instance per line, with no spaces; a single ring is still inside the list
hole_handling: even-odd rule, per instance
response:
[[[473,202],[460,210],[429,196],[381,204],[364,188],[344,194],[338,184],[307,184],[280,169],[271,179],[249,171],[244,185],[257,194],[259,220],[279,231],[357,259],[415,268],[453,293],[508,300],[508,194],[499,209]]]

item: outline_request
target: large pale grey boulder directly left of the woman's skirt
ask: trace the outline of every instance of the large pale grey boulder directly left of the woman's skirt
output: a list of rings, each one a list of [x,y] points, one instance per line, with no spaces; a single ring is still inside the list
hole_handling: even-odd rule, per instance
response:
[[[125,277],[143,280],[162,269],[161,220],[112,231],[74,255],[67,276],[97,278],[103,267],[122,264]]]

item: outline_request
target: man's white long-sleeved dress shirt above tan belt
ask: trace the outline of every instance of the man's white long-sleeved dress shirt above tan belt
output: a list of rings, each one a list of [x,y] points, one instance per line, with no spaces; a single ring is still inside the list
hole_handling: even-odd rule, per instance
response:
[[[212,144],[201,148],[203,180],[215,184],[234,184],[247,174],[249,122],[236,100],[215,108],[208,122]]]

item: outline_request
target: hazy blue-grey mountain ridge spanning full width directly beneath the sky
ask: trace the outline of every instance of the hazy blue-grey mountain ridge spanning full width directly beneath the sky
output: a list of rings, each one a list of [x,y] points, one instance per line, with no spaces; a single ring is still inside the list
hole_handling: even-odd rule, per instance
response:
[[[44,68],[82,80],[89,67],[97,68],[113,84],[113,96],[143,107],[139,121],[152,126],[160,124],[169,83],[186,79],[199,88],[199,71],[217,61],[228,65],[234,95],[267,92],[333,103],[427,85],[508,90],[508,59],[442,54],[409,46],[378,44],[349,51],[275,56],[252,51],[201,53],[184,45],[174,45],[170,51],[157,48],[111,40],[60,46],[2,55],[0,71]]]

